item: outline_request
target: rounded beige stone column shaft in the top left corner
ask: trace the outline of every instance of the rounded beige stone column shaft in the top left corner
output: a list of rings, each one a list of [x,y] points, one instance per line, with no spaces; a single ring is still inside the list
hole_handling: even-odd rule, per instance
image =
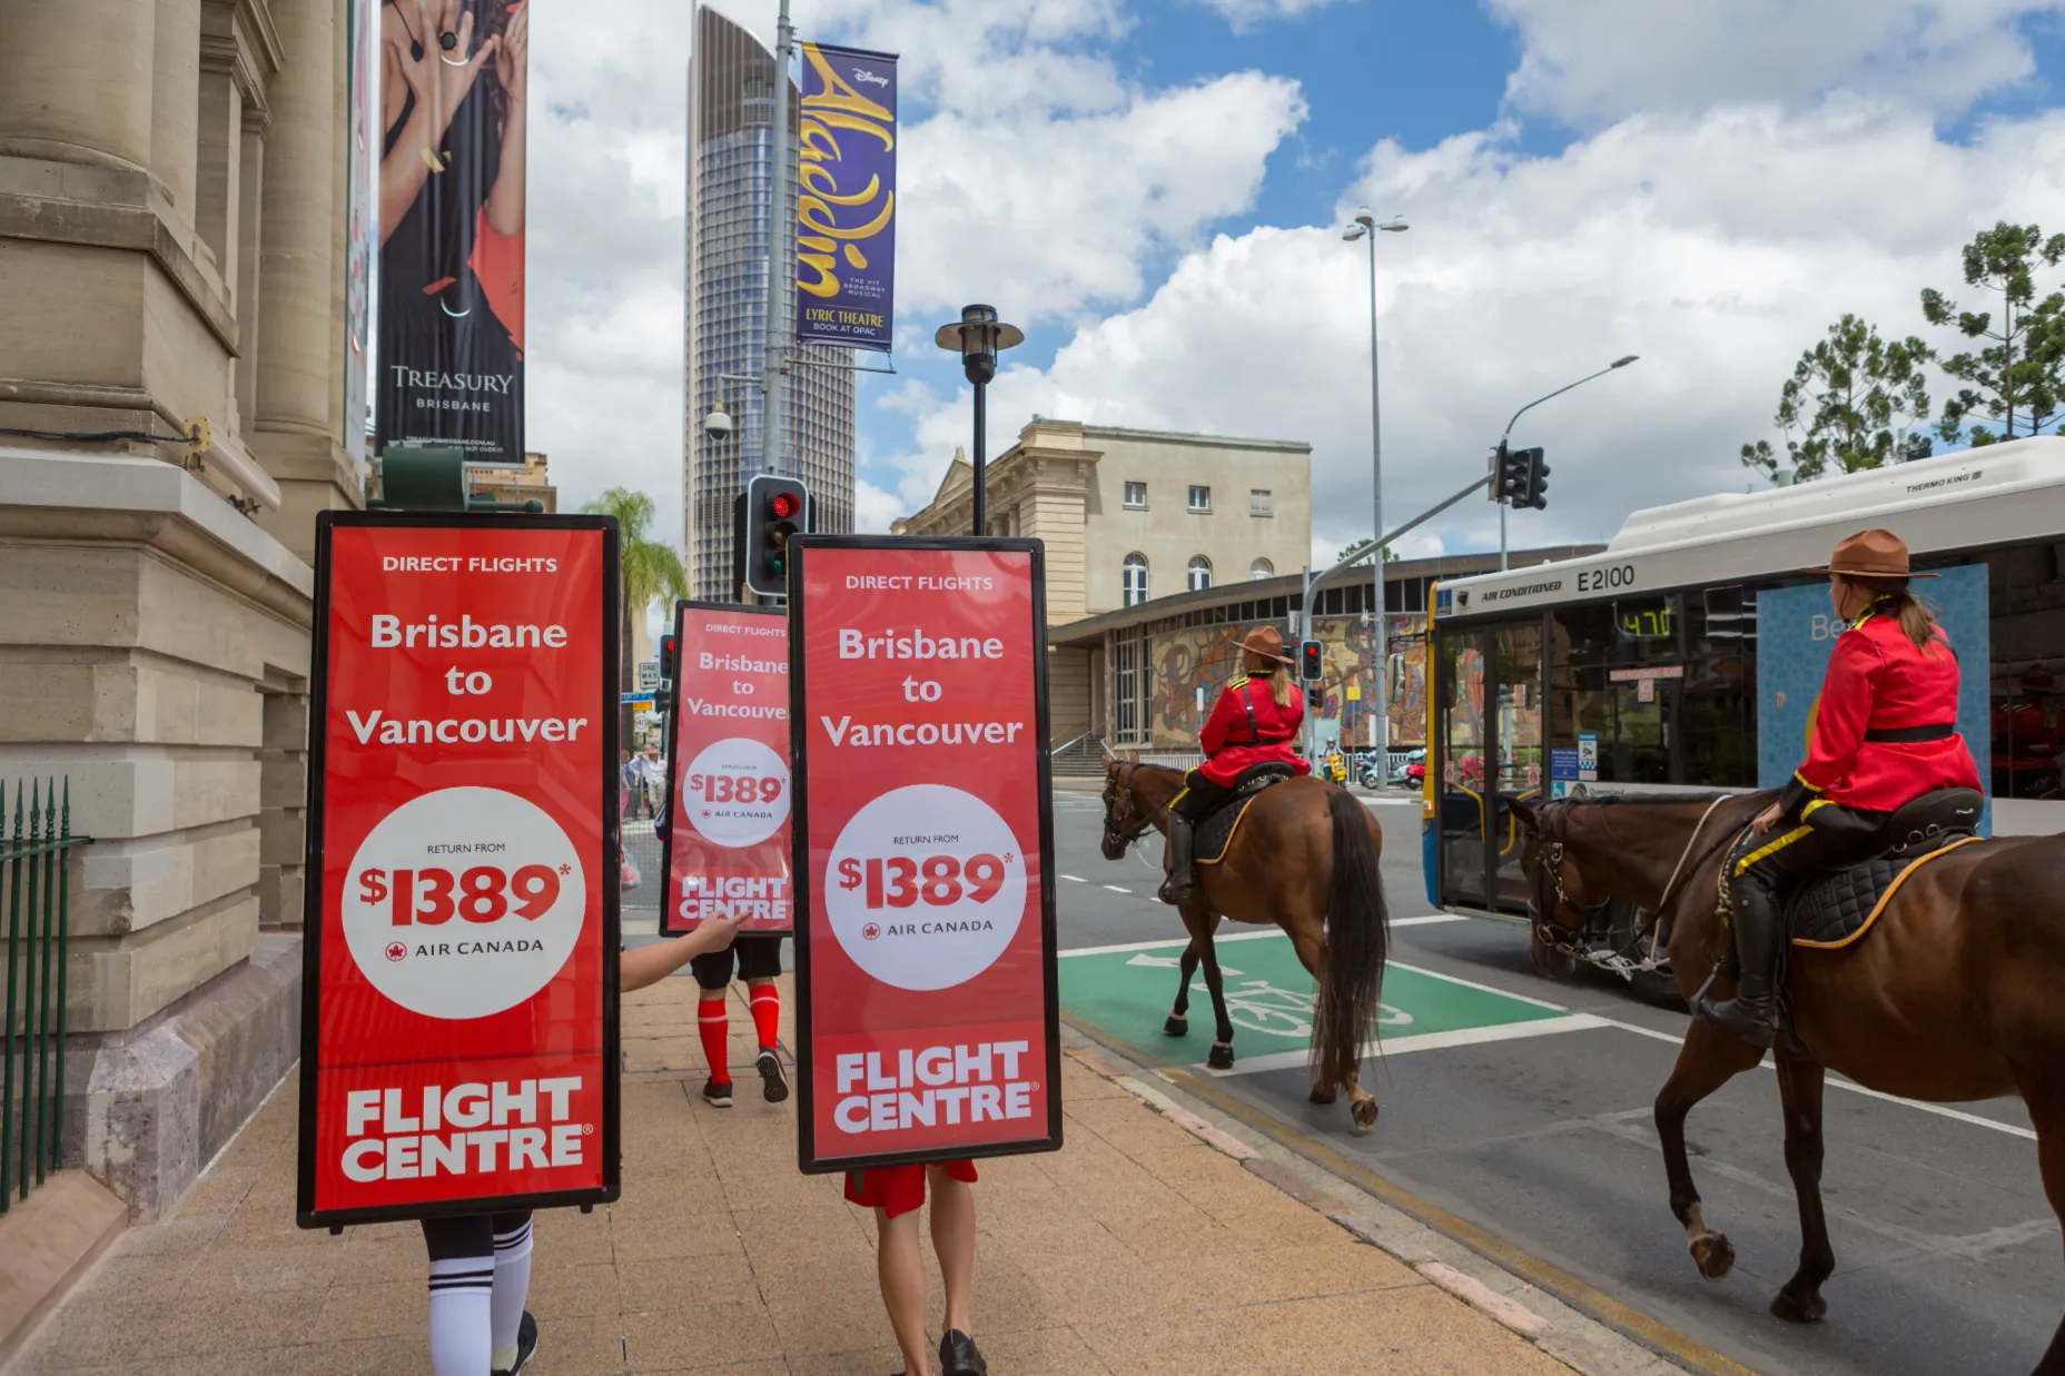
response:
[[[151,165],[155,0],[0,0],[0,155]]]

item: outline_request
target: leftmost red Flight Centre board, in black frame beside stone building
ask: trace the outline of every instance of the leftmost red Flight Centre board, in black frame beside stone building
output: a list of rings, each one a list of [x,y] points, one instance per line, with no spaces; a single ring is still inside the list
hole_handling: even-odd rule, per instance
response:
[[[322,512],[301,1227],[617,1196],[617,531]]]

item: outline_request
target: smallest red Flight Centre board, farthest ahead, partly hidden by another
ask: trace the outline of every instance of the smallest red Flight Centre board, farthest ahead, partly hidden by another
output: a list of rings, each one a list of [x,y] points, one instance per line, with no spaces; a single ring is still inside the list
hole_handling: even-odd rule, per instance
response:
[[[789,620],[774,607],[679,601],[673,636],[661,932],[733,913],[745,913],[741,932],[787,932]]]

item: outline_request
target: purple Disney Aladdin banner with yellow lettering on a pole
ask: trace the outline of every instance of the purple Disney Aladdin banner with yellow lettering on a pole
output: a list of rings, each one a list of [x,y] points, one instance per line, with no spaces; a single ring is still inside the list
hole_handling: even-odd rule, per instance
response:
[[[896,298],[896,58],[803,43],[795,339],[890,351]]]

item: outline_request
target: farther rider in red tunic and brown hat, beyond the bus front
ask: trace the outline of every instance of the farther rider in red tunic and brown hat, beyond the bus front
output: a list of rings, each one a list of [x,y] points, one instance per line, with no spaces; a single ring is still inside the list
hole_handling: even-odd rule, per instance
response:
[[[1198,822],[1233,798],[1233,783],[1256,764],[1270,760],[1309,773],[1293,748],[1305,725],[1305,694],[1291,682],[1291,657],[1274,626],[1258,626],[1239,638],[1241,674],[1218,694],[1198,744],[1204,764],[1183,777],[1183,791],[1169,800],[1169,878],[1161,901],[1181,907],[1198,884],[1194,837]]]

